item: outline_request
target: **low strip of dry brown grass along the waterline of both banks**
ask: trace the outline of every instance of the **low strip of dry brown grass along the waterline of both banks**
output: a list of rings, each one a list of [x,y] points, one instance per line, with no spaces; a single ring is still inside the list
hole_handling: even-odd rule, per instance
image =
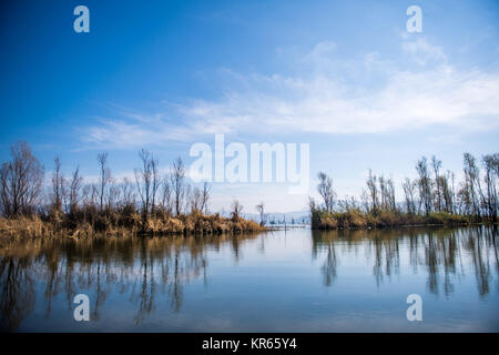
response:
[[[424,216],[419,216],[424,217]],[[459,216],[464,217],[464,216]],[[222,217],[218,214],[202,215],[189,214],[180,216],[149,217],[146,226],[142,221],[134,220],[136,223],[131,225],[106,225],[98,227],[89,222],[78,223],[69,226],[70,222],[44,221],[38,215],[20,216],[18,219],[0,217],[0,239],[17,237],[61,237],[61,239],[85,239],[85,237],[115,237],[115,236],[213,236],[224,234],[245,234],[263,233],[289,230],[310,230],[310,231],[376,231],[376,230],[404,230],[417,227],[466,227],[466,226],[497,226],[497,222],[490,221],[442,221],[418,223],[393,223],[393,224],[286,224],[286,225],[261,225],[259,223],[242,217]],[[320,221],[322,222],[322,221]]]

